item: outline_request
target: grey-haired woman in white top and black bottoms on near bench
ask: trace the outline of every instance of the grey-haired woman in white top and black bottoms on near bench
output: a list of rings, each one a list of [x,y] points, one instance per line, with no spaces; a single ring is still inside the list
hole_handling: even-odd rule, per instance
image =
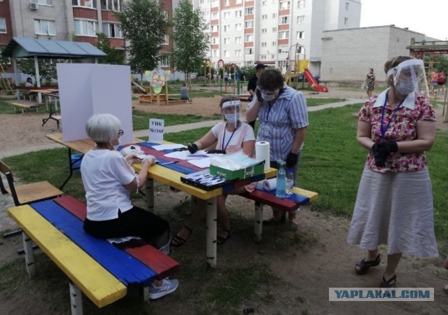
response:
[[[95,142],[81,163],[81,177],[87,200],[84,230],[100,239],[137,236],[160,251],[169,253],[169,223],[149,211],[135,207],[130,190],[138,190],[146,182],[148,168],[155,164],[152,155],[139,160],[134,155],[123,155],[114,150],[120,144],[123,130],[120,120],[111,114],[97,114],[85,124],[87,135]],[[141,162],[136,174],[131,166]],[[150,299],[174,292],[176,279],[155,280],[149,289]]]

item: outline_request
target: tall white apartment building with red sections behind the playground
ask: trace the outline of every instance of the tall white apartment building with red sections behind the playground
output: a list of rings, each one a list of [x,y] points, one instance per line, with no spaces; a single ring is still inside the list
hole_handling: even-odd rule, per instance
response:
[[[193,0],[209,24],[209,57],[249,66],[286,66],[288,55],[320,71],[323,31],[360,25],[360,0]],[[293,49],[293,45],[298,44]]]

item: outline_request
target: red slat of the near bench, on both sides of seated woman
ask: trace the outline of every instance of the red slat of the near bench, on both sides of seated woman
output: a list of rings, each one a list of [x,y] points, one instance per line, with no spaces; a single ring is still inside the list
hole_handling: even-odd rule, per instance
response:
[[[53,201],[81,221],[85,220],[85,217],[87,216],[87,207],[75,197],[65,195],[55,198]],[[151,269],[158,274],[157,279],[159,280],[164,279],[180,269],[179,262],[176,262],[176,260],[158,251],[158,249],[151,245],[125,248],[125,251],[145,265],[151,266]]]

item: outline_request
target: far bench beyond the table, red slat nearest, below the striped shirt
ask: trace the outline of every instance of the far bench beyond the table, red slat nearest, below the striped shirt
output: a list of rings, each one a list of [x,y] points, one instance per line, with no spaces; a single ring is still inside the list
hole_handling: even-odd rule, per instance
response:
[[[260,243],[262,237],[262,225],[263,225],[263,206],[271,206],[275,209],[279,209],[281,211],[292,212],[299,209],[300,204],[309,204],[309,202],[315,201],[318,198],[318,193],[314,193],[309,190],[304,190],[301,188],[294,187],[293,193],[296,194],[297,200],[300,202],[289,200],[289,199],[280,199],[275,195],[268,193],[263,190],[253,190],[252,193],[245,193],[241,196],[246,197],[247,199],[255,201],[255,226],[253,228],[253,235],[255,243]]]

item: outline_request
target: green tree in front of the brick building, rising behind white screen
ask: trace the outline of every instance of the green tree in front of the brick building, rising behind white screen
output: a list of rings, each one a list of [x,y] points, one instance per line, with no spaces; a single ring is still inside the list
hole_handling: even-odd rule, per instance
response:
[[[129,64],[132,71],[143,74],[160,60],[168,21],[155,0],[134,0],[125,3],[123,12],[116,13],[123,36],[130,41]]]

